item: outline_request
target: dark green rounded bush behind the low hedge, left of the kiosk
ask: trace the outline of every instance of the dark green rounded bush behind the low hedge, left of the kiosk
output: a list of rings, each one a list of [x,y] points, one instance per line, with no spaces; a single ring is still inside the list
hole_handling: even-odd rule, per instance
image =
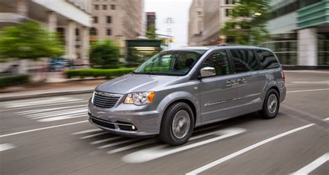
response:
[[[99,40],[90,48],[90,65],[92,67],[117,68],[120,49],[111,40]]]

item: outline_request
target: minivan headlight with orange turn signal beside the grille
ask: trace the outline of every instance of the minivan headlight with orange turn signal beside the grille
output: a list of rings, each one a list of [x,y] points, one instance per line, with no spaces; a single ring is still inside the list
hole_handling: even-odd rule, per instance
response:
[[[151,103],[154,99],[155,92],[136,92],[128,94],[124,103],[145,105]]]

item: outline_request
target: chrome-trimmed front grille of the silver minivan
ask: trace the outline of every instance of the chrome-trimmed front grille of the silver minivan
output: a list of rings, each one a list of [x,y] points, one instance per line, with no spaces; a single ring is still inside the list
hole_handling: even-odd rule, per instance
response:
[[[110,94],[106,92],[94,92],[92,103],[99,108],[112,108],[119,101],[121,94]]]

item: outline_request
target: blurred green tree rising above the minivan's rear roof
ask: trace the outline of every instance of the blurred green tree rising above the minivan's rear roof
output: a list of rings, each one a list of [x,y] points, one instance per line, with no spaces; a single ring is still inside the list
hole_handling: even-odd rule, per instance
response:
[[[269,37],[269,0],[240,0],[230,13],[229,19],[221,28],[223,34],[235,38],[235,44],[259,45]]]

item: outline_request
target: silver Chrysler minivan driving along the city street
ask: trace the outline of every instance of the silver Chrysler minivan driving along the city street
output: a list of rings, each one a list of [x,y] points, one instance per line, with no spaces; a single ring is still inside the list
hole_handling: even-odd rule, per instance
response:
[[[186,47],[162,51],[130,74],[97,86],[88,114],[106,131],[160,135],[180,145],[205,124],[253,112],[276,117],[285,94],[285,74],[269,49]]]

